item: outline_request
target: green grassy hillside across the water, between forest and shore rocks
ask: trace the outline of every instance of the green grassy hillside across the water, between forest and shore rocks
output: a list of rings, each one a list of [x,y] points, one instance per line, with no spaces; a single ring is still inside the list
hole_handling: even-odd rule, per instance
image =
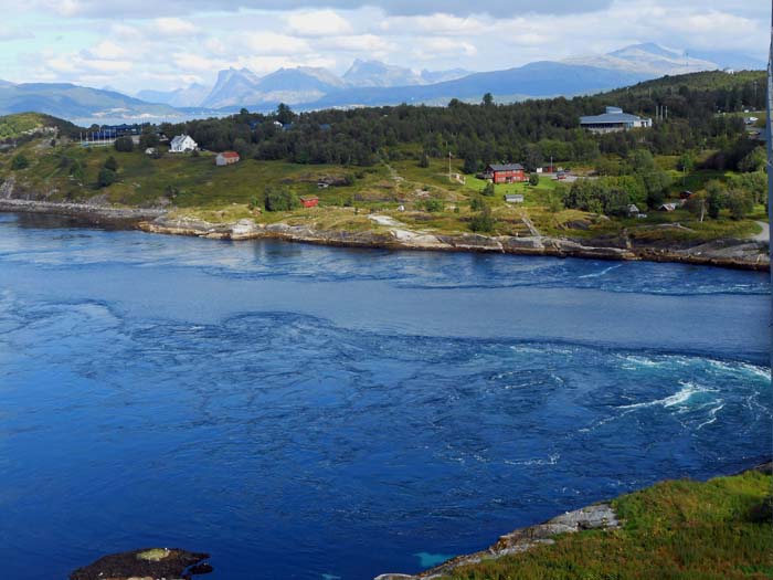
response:
[[[23,126],[25,116],[0,118],[0,126]],[[4,124],[4,125],[3,125]],[[700,217],[689,208],[674,212],[647,210],[646,179],[661,175],[664,201],[678,201],[684,189],[706,194],[708,184],[733,188],[740,179],[750,179],[728,170],[702,169],[700,165],[713,155],[699,154],[689,170],[680,170],[679,156],[647,158],[652,171],[638,177],[614,177],[635,171],[628,158],[608,155],[595,164],[572,165],[573,175],[583,176],[603,168],[613,177],[586,180],[604,186],[600,192],[571,197],[578,183],[559,182],[539,177],[536,184],[498,184],[494,188],[473,175],[464,175],[464,161],[423,157],[417,149],[403,147],[393,159],[379,157],[369,167],[332,164],[293,164],[283,160],[246,158],[230,167],[216,167],[214,154],[170,154],[163,145],[157,156],[146,155],[139,147],[130,152],[114,147],[81,147],[66,138],[45,136],[0,151],[0,181],[13,196],[49,201],[98,201],[118,205],[168,207],[178,213],[210,221],[233,221],[253,218],[262,222],[287,221],[318,228],[360,230],[373,228],[364,215],[379,211],[392,215],[406,228],[435,233],[478,231],[489,234],[528,235],[533,233],[528,218],[542,234],[570,238],[611,238],[626,232],[646,242],[698,242],[717,238],[743,238],[759,231],[755,220],[765,219],[764,207],[752,203],[742,217],[731,215],[730,208],[719,210],[716,219]],[[423,158],[422,158],[423,157]],[[110,182],[100,182],[108,159],[116,164]],[[417,159],[419,158],[419,159]],[[594,167],[599,166],[599,167]],[[632,168],[633,167],[633,168]],[[744,173],[745,176],[759,175]],[[458,179],[456,178],[458,176]],[[756,183],[754,181],[754,183]],[[764,181],[764,180],[763,180]],[[318,183],[329,183],[320,189]],[[659,182],[658,182],[659,183]],[[646,218],[615,214],[593,196],[605,200],[608,188],[626,188],[625,208],[635,201]],[[658,187],[660,187],[658,186]],[[710,188],[709,188],[710,189]],[[304,209],[296,203],[288,211],[265,211],[266,191],[282,190],[297,199],[318,196],[320,207]],[[523,203],[506,203],[504,196],[521,193]],[[586,194],[591,199],[586,199]],[[583,197],[585,196],[585,197]],[[571,199],[570,199],[571,198]],[[595,201],[594,201],[595,200]],[[571,201],[571,202],[570,202]],[[402,209],[401,209],[402,207]],[[610,213],[610,217],[604,213]],[[670,226],[670,224],[678,225]],[[664,225],[666,225],[664,228]]]

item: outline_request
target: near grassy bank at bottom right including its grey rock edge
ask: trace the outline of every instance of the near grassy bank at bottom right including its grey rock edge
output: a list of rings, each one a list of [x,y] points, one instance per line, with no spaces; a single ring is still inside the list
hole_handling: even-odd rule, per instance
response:
[[[755,580],[773,574],[773,462],[676,479],[520,528],[417,574],[375,580]]]

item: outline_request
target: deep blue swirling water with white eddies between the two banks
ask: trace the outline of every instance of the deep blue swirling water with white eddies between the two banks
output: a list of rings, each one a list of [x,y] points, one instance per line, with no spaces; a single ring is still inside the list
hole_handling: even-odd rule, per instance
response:
[[[0,215],[0,560],[417,571],[770,454],[765,274]]]

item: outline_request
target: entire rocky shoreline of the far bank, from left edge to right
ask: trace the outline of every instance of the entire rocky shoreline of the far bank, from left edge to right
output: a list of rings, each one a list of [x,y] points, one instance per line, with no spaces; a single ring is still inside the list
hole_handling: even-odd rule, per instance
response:
[[[0,212],[67,215],[84,221],[120,223],[145,232],[190,235],[214,240],[277,239],[290,242],[349,247],[431,250],[447,252],[487,252],[592,260],[679,262],[740,270],[769,271],[767,244],[751,240],[719,240],[689,247],[637,245],[629,241],[579,241],[544,235],[487,236],[474,233],[433,234],[402,228],[350,232],[316,230],[286,223],[260,224],[253,220],[211,223],[192,218],[172,217],[167,210],[112,208],[81,203],[54,203],[36,200],[0,199]]]

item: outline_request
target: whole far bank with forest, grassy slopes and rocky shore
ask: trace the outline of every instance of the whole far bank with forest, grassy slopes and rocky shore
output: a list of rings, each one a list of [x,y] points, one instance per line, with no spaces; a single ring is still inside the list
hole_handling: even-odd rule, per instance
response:
[[[763,81],[707,72],[513,104],[279,105],[121,126],[115,141],[115,127],[10,115],[0,200],[96,221],[124,208],[144,231],[203,238],[767,270]],[[581,126],[610,106],[655,120]],[[183,136],[192,150],[172,150]]]

